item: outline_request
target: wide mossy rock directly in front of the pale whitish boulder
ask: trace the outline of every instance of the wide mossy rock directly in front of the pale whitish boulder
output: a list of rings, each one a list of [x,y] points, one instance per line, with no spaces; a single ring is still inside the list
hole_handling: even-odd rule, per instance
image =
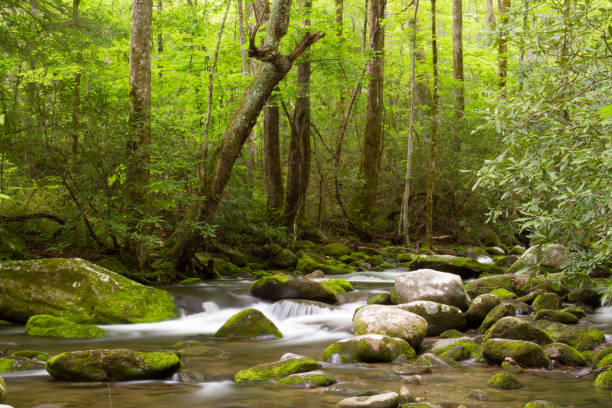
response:
[[[415,351],[406,341],[382,334],[364,334],[343,339],[331,344],[323,352],[323,359],[330,363],[390,362],[400,356],[410,359],[415,356]]]

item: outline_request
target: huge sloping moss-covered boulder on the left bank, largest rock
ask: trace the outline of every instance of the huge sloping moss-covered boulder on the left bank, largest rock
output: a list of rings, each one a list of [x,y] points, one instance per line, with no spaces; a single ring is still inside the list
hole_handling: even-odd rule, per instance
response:
[[[172,296],[78,258],[0,263],[0,318],[48,314],[77,323],[142,323],[176,316]]]

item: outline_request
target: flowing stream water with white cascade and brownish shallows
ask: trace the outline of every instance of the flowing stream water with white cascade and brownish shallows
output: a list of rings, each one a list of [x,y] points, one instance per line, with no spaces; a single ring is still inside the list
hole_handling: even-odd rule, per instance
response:
[[[190,408],[190,407],[334,407],[356,391],[398,391],[402,377],[391,364],[325,365],[338,379],[331,389],[284,389],[273,384],[235,384],[236,371],[255,364],[276,361],[291,352],[320,359],[325,347],[351,336],[354,310],[368,296],[388,291],[397,273],[359,272],[339,276],[356,291],[346,294],[339,306],[285,300],[268,303],[248,295],[248,280],[218,280],[189,286],[167,287],[181,306],[176,320],[134,325],[102,326],[109,337],[95,340],[61,340],[30,337],[23,327],[0,328],[0,349],[36,349],[56,354],[67,350],[131,348],[139,351],[170,349],[176,342],[197,340],[223,349],[222,357],[187,357],[185,371],[190,380],[175,376],[168,381],[121,383],[62,383],[44,370],[4,373],[8,403],[15,408]],[[282,339],[230,341],[213,337],[215,331],[236,312],[261,310],[284,334]],[[611,340],[612,308],[602,308],[588,319]],[[487,380],[499,368],[466,362],[453,369],[424,376],[422,385],[411,386],[417,397],[428,401],[463,403],[478,407],[522,407],[525,402],[544,399],[575,407],[612,408],[609,391],[593,386],[593,377],[576,379],[577,372],[534,372],[519,375],[520,390],[489,388]],[[483,391],[488,401],[468,398],[472,390]]]

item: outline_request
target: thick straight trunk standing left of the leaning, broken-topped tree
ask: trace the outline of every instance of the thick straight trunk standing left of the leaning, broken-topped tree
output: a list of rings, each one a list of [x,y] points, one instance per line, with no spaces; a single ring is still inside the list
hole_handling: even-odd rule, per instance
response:
[[[149,144],[151,143],[151,24],[152,0],[133,0],[130,39],[130,136],[126,166],[126,198],[136,220],[148,214]],[[134,221],[131,232],[139,235]],[[129,251],[141,267],[147,261],[145,242],[129,238]]]

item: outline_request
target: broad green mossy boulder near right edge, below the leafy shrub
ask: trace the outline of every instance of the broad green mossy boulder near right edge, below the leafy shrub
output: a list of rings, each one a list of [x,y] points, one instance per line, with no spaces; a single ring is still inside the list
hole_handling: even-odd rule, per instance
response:
[[[606,341],[601,330],[586,325],[567,325],[547,320],[536,320],[535,324],[554,341],[569,344],[580,351],[592,350]]]

